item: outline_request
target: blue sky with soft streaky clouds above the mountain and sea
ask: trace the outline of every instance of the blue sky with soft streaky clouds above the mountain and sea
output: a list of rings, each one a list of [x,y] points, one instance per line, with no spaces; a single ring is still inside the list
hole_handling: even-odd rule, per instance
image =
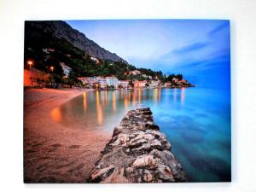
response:
[[[182,73],[201,87],[230,87],[229,20],[66,20],[136,67]]]

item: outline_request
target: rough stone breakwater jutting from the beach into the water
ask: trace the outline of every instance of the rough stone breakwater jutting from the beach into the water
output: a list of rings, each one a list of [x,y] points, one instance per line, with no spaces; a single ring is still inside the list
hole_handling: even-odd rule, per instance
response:
[[[129,111],[90,173],[90,183],[186,182],[183,168],[171,152],[150,108]]]

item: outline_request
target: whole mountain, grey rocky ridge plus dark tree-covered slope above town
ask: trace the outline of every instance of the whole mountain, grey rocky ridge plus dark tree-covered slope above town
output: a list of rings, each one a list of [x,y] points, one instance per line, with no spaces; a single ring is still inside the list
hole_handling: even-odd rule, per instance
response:
[[[91,58],[94,56],[97,58]],[[70,76],[77,77],[112,76],[120,80],[165,79],[159,71],[137,68],[118,55],[110,53],[64,21],[26,21],[24,41],[24,68],[32,67],[51,73],[56,81],[63,77],[62,65],[71,68]],[[54,70],[52,70],[54,68]],[[141,74],[129,75],[131,71]],[[144,75],[144,76],[143,76]],[[145,77],[146,75],[146,77]]]

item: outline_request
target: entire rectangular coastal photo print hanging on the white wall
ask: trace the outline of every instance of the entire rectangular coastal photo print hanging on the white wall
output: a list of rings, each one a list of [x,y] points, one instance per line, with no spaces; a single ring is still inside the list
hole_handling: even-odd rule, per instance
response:
[[[231,181],[229,20],[27,20],[25,183]]]

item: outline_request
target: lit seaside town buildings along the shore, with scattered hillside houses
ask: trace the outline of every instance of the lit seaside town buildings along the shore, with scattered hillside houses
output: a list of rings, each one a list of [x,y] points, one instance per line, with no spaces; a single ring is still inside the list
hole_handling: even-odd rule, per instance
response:
[[[44,53],[54,52],[55,49],[43,49]],[[96,65],[99,65],[101,61],[95,57],[90,56],[91,61],[95,61]],[[24,86],[26,88],[61,88],[61,87],[78,87],[84,89],[95,89],[95,90],[119,90],[119,89],[154,89],[154,88],[181,88],[181,87],[192,87],[193,84],[183,79],[182,75],[175,76],[165,75],[167,81],[163,81],[159,76],[152,77],[145,73],[141,73],[139,70],[127,71],[125,75],[130,80],[121,80],[111,76],[91,76],[91,77],[76,77],[74,84],[68,83],[72,68],[68,67],[64,62],[60,62],[61,69],[63,71],[63,80],[61,83],[56,83],[54,79],[55,67],[49,67],[51,73],[45,73],[33,67],[33,61],[27,61],[29,69],[24,69]],[[143,80],[140,80],[143,79]],[[66,83],[65,83],[66,82]]]

